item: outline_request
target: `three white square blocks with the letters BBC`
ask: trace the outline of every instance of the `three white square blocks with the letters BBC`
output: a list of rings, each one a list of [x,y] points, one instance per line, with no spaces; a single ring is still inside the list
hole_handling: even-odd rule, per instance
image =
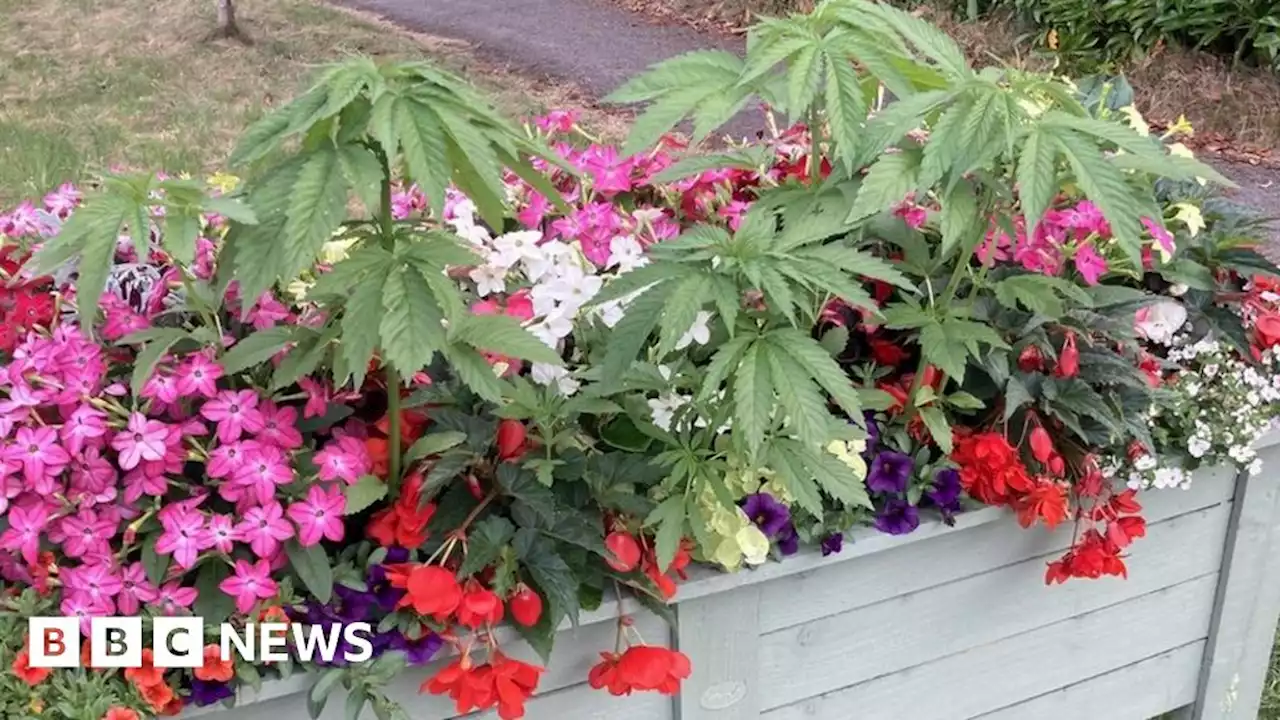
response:
[[[27,621],[32,667],[79,667],[78,618],[31,618]],[[91,618],[92,667],[141,667],[142,618]],[[205,624],[200,618],[156,618],[151,644],[156,667],[200,667],[205,664]]]

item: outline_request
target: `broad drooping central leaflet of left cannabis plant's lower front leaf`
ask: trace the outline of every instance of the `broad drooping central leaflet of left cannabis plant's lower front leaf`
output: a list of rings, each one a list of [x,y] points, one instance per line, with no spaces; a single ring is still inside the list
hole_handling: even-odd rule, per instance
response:
[[[393,268],[383,286],[378,329],[387,363],[404,375],[426,366],[445,345],[443,318],[422,275],[407,265]]]

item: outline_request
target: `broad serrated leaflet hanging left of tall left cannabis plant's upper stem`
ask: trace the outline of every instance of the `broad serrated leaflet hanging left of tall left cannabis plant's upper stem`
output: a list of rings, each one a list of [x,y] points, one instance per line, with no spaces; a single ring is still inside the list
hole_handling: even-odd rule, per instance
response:
[[[289,196],[284,222],[282,278],[311,268],[320,247],[347,217],[347,183],[338,149],[328,145],[306,155]]]

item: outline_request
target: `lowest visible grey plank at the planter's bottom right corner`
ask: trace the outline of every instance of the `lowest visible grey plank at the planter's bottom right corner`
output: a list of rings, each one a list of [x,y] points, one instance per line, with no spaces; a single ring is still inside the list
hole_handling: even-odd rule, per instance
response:
[[[1204,641],[982,715],[980,720],[1148,720],[1196,700]],[[1158,688],[1161,692],[1134,692]]]

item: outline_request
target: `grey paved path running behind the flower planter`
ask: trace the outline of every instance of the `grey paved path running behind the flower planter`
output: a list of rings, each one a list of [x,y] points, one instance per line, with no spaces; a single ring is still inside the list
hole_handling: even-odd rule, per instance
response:
[[[649,65],[703,47],[741,53],[740,37],[658,24],[608,0],[335,0],[371,12],[408,29],[466,41],[480,55],[532,74],[572,81],[603,96]],[[742,114],[724,132],[760,129],[758,115]],[[1212,156],[1208,156],[1210,161]],[[1280,218],[1280,169],[1215,161],[1239,190],[1240,202]],[[1272,225],[1280,250],[1280,223]]]

